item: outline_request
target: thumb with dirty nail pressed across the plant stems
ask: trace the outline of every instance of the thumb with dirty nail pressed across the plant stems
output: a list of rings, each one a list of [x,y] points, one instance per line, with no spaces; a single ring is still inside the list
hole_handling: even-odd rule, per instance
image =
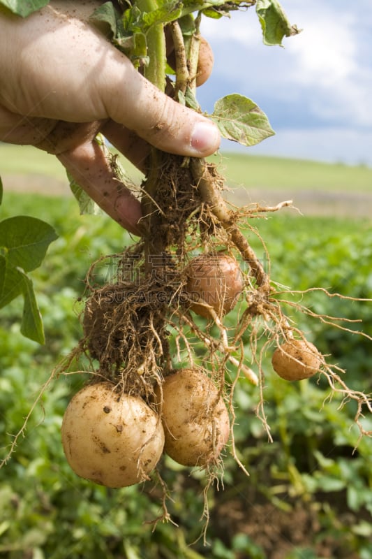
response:
[[[207,157],[218,150],[217,126],[161,92],[119,51],[105,64],[99,80],[109,117],[154,147],[189,157]]]

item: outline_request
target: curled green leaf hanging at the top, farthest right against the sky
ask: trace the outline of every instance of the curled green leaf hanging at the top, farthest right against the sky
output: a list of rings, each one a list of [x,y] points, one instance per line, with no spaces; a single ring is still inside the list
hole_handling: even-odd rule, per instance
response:
[[[281,45],[283,37],[299,33],[299,29],[288,21],[278,0],[258,0],[255,10],[265,45]]]

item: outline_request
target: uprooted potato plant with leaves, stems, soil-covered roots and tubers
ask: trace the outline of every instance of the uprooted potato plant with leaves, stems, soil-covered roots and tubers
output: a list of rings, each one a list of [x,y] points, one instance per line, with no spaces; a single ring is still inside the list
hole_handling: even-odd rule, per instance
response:
[[[196,85],[205,67],[200,60],[206,52],[200,38],[202,17],[253,6],[265,43],[280,44],[283,36],[297,34],[276,0],[107,1],[91,22],[104,27],[114,45],[157,87],[201,111]],[[166,41],[173,52],[169,64]],[[225,138],[246,146],[273,133],[262,110],[238,94],[216,101],[209,116]],[[124,182],[108,150],[107,158]],[[230,451],[244,469],[235,449],[234,391],[240,376],[258,386],[257,413],[270,439],[262,368],[267,351],[273,352],[273,368],[283,379],[324,375],[331,394],[355,400],[361,436],[371,435],[362,422],[363,414],[372,412],[369,395],[348,388],[344,371],[306,340],[286,307],[329,327],[347,330],[348,324],[317,317],[293,303],[294,292],[271,279],[247,240],[247,231],[255,233],[253,219],[290,202],[238,209],[225,202],[223,189],[223,176],[214,164],[151,148],[139,191],[144,216],[140,239],[91,264],[82,340],[53,372],[89,360],[91,381],[71,401],[62,429],[68,462],[82,477],[110,487],[134,484],[156,471],[163,451],[182,465],[206,468],[209,483],[223,469],[223,453]],[[116,270],[113,281],[101,280],[106,264]],[[233,307],[238,317],[234,325],[228,322]],[[251,355],[243,350],[246,332]],[[258,351],[258,339],[264,336]],[[166,495],[168,489],[164,491]]]

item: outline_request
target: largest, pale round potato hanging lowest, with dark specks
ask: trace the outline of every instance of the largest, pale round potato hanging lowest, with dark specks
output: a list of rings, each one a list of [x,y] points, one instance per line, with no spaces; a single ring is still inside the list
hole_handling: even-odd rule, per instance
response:
[[[72,398],[61,428],[75,474],[107,487],[147,479],[164,447],[158,415],[142,398],[114,391],[110,382],[85,386]]]

